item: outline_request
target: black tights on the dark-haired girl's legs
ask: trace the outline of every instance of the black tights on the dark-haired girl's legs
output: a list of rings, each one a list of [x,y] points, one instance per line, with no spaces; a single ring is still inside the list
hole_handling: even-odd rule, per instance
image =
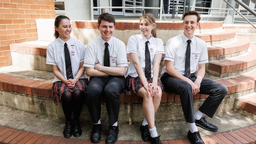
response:
[[[79,121],[82,111],[84,93],[82,90],[74,92],[65,91],[62,93],[62,108],[65,114],[66,122],[71,121],[72,111],[74,113],[74,121]]]

